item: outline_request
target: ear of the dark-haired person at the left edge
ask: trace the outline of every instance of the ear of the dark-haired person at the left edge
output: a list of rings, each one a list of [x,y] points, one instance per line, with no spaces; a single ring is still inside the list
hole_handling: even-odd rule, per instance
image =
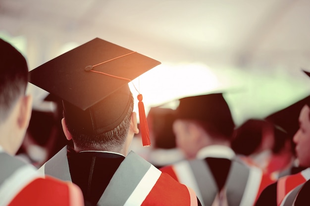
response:
[[[17,124],[20,129],[27,129],[32,111],[32,96],[23,96],[20,98],[19,113]]]

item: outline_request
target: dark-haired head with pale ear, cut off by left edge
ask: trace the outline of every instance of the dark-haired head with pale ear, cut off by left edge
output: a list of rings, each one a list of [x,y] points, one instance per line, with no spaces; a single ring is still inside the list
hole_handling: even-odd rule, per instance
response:
[[[32,98],[26,96],[28,66],[25,57],[0,39],[0,145],[15,154],[27,130]]]

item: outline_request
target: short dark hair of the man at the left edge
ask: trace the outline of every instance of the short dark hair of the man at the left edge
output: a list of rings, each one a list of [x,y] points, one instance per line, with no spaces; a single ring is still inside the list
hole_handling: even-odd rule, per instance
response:
[[[12,105],[25,94],[28,65],[25,57],[12,45],[0,39],[0,121],[7,118]]]

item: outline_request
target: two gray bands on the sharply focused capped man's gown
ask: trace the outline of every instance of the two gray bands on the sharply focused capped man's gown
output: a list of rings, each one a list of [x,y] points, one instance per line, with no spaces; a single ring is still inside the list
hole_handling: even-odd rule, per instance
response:
[[[131,151],[114,173],[98,202],[98,206],[124,205],[150,167],[151,163]],[[46,162],[45,174],[64,181],[72,181],[67,159],[67,147],[61,149]]]

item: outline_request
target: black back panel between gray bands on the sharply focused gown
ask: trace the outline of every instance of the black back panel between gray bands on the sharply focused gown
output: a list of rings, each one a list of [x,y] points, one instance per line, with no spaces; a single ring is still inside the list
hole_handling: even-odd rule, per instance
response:
[[[97,205],[109,181],[124,159],[124,156],[113,153],[68,152],[72,182],[81,188],[86,205]]]

